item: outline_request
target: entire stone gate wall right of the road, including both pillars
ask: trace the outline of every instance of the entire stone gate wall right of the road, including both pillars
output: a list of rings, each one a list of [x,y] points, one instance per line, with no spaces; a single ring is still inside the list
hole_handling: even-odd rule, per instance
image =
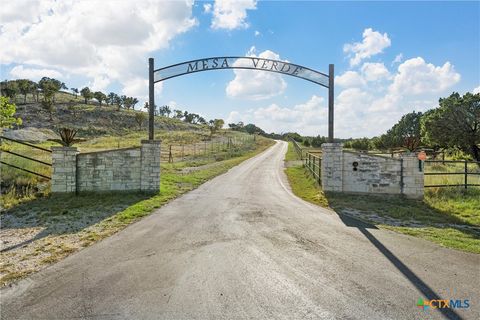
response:
[[[324,143],[322,188],[336,192],[404,194],[420,199],[424,176],[418,162],[414,153],[388,158],[344,151],[340,143]]]

